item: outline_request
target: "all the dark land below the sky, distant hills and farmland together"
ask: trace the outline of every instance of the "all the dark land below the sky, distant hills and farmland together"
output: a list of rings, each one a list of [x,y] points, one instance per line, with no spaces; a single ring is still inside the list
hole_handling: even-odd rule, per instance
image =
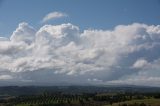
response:
[[[150,87],[7,87],[0,93],[0,106],[160,106],[159,88]]]

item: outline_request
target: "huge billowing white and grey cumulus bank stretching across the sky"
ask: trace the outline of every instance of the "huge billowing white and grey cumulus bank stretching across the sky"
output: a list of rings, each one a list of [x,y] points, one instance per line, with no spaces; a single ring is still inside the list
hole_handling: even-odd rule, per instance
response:
[[[147,80],[160,86],[159,64],[159,25],[134,23],[80,32],[70,23],[36,30],[23,22],[10,39],[0,38],[3,80],[136,85],[147,85]]]

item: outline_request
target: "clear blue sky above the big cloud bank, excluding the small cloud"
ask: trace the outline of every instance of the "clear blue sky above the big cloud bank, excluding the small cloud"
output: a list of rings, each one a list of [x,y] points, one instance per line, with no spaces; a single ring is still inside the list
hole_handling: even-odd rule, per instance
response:
[[[159,0],[1,0],[0,35],[9,37],[20,22],[38,29],[43,26],[42,18],[52,11],[68,17],[47,24],[70,22],[82,30],[112,29],[134,22],[160,24]]]

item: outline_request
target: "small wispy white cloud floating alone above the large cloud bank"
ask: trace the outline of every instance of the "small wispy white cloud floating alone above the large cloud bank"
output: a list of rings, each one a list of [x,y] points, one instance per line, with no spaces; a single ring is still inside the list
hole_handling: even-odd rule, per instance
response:
[[[57,11],[55,11],[55,12],[51,12],[51,13],[47,14],[47,15],[43,18],[42,22],[47,22],[47,21],[49,21],[49,20],[54,20],[54,19],[57,19],[57,18],[62,18],[62,17],[67,17],[67,16],[68,16],[68,15],[67,15],[66,13],[62,13],[62,12],[57,12]]]

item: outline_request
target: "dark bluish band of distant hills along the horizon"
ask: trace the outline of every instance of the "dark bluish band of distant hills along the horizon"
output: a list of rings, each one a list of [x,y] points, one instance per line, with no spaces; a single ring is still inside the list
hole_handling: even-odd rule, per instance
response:
[[[38,95],[43,92],[93,93],[93,92],[160,92],[158,87],[141,86],[4,86],[0,95]]]

